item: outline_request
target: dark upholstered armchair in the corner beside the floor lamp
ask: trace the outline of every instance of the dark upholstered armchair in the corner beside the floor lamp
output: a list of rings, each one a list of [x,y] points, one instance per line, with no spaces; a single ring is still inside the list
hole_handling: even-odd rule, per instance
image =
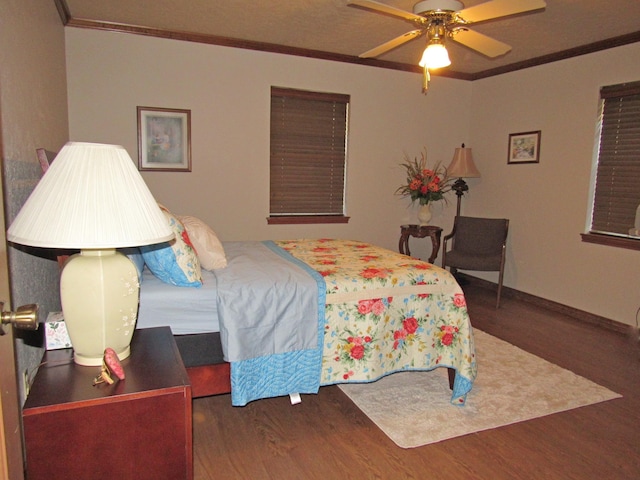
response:
[[[442,266],[454,275],[458,269],[500,272],[496,308],[500,307],[508,231],[506,218],[458,216],[442,247]]]

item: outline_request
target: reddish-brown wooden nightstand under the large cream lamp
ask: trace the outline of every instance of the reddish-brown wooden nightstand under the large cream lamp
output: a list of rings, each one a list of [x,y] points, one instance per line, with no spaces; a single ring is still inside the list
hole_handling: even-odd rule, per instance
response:
[[[191,386],[169,327],[136,330],[126,378],[48,351],[22,416],[29,480],[193,478]]]

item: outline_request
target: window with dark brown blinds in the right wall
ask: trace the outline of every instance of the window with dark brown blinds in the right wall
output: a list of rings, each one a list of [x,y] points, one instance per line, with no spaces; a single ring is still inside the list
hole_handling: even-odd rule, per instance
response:
[[[583,240],[640,250],[630,236],[640,205],[640,82],[600,89],[600,139],[591,228]]]

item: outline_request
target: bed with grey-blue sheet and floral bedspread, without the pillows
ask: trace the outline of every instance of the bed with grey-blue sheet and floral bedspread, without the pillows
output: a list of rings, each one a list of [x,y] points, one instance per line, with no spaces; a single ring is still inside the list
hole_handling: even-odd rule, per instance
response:
[[[195,397],[235,406],[406,370],[448,368],[454,405],[476,377],[449,272],[359,241],[225,242],[226,266],[177,287],[142,272],[137,328],[169,325]]]

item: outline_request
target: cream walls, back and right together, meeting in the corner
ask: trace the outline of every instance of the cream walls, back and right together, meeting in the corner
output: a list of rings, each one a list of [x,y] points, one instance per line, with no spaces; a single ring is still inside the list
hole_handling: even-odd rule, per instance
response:
[[[396,249],[415,209],[393,196],[406,151],[445,164],[473,148],[462,211],[508,217],[505,284],[634,324],[637,251],[583,244],[598,88],[640,77],[640,44],[475,82],[359,65],[67,28],[70,134],[137,158],[136,106],[191,109],[192,173],[144,173],[157,199],[210,223],[224,240],[340,237]],[[348,225],[268,226],[269,88],[351,95]],[[541,160],[507,165],[509,133],[542,130]],[[455,197],[432,223],[449,231]],[[412,240],[427,258],[427,243]],[[439,262],[441,256],[437,262]],[[481,274],[496,281],[492,273]]]

